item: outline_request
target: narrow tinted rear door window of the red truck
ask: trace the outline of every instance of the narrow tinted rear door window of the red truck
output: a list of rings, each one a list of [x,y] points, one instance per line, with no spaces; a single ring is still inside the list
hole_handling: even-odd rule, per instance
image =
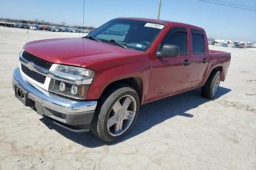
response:
[[[191,30],[192,33],[192,45],[194,53],[205,52],[204,35],[199,30]]]

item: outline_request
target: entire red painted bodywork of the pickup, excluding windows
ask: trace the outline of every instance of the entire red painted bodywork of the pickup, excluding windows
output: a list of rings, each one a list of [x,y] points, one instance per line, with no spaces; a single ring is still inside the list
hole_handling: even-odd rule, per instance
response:
[[[128,50],[86,38],[33,41],[27,43],[24,50],[52,63],[93,69],[95,77],[88,90],[87,100],[99,99],[106,86],[124,78],[140,78],[143,87],[142,104],[203,86],[216,67],[222,67],[221,81],[225,80],[231,55],[228,52],[209,50],[206,33],[202,28],[148,18],[124,19],[160,23],[165,24],[165,27],[146,52]],[[157,58],[157,47],[172,27],[187,29],[188,53],[176,58]],[[205,53],[192,52],[191,29],[203,31]],[[203,58],[206,58],[206,63],[202,62]],[[190,61],[189,66],[183,65],[185,59]]]

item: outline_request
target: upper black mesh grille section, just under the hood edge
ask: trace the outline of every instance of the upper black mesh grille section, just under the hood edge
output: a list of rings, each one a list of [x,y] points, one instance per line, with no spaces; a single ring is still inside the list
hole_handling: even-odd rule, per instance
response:
[[[32,55],[32,54],[30,54],[28,52],[25,52],[25,51],[22,53],[22,57],[24,59],[26,59],[27,61],[30,61],[33,64],[36,64],[37,66],[43,67],[43,68],[48,69],[48,70],[53,65],[52,63],[50,63],[48,61],[44,61],[44,60],[42,60],[40,58],[37,58],[36,56],[34,56],[34,55]]]

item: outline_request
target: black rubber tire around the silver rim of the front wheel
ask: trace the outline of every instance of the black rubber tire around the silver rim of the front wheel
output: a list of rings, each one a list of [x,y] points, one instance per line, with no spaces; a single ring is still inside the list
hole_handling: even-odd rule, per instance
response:
[[[125,84],[116,84],[112,87],[113,88],[108,89],[108,91],[105,92],[105,94],[103,94],[102,98],[99,100],[95,115],[91,122],[91,132],[93,135],[99,137],[100,140],[105,142],[114,142],[125,136],[134,125],[140,109],[140,98],[134,89],[132,89],[130,86],[126,86]],[[123,132],[121,135],[111,135],[107,122],[111,114],[112,107],[117,101],[127,95],[132,96],[136,103],[136,111],[133,120],[130,121],[131,125],[129,125],[128,129],[125,130],[125,132]],[[116,126],[116,124],[114,126]]]

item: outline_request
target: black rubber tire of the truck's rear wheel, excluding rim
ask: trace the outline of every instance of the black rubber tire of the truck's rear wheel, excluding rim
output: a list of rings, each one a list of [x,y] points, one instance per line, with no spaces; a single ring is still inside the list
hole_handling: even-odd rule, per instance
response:
[[[217,91],[214,92],[214,83],[217,81],[217,78],[219,80],[218,84],[220,84],[220,71],[214,70],[211,72],[211,75],[209,75],[206,84],[201,88],[201,94],[204,98],[213,99],[216,95]]]

